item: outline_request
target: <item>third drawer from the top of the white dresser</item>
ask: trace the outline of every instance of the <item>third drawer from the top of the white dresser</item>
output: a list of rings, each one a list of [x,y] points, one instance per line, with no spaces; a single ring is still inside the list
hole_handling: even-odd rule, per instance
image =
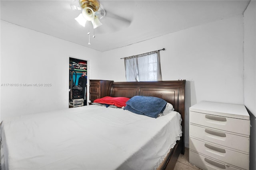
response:
[[[240,168],[249,169],[249,155],[216,147],[189,137],[189,149]]]

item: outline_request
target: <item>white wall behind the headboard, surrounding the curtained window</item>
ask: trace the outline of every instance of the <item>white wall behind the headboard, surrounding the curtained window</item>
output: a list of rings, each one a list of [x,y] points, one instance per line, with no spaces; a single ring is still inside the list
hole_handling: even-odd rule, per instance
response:
[[[125,81],[120,58],[160,51],[163,80],[187,80],[185,142],[188,147],[189,107],[202,100],[244,104],[243,16],[199,25],[102,53],[102,77]],[[104,64],[103,64],[104,63]]]

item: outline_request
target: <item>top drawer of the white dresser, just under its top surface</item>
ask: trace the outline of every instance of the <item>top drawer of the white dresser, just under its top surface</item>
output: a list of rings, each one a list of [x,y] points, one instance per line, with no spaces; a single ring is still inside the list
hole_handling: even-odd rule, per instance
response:
[[[250,120],[222,117],[194,111],[189,112],[189,119],[190,123],[250,135]]]

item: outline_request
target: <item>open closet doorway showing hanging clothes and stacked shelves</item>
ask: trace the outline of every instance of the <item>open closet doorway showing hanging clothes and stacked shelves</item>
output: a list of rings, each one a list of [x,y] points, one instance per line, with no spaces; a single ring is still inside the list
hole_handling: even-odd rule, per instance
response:
[[[87,105],[87,63],[69,57],[69,107]]]

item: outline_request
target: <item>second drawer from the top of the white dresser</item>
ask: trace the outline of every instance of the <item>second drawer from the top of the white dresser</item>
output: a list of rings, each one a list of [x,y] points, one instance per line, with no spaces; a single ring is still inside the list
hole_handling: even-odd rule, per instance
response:
[[[250,138],[232,135],[221,131],[215,131],[196,125],[189,125],[189,135],[205,141],[216,143],[225,147],[241,150],[249,153]]]

